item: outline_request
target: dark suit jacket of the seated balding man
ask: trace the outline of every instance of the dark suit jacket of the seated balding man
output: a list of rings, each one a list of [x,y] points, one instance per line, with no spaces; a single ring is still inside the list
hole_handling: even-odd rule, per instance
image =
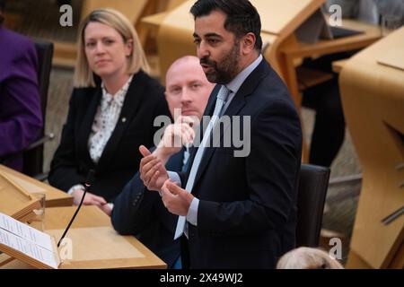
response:
[[[180,171],[184,154],[179,152],[167,162],[167,170]],[[136,235],[169,268],[180,256],[180,239],[174,240],[178,216],[162,204],[158,192],[149,191],[136,173],[115,199],[111,214],[115,230],[122,235]]]

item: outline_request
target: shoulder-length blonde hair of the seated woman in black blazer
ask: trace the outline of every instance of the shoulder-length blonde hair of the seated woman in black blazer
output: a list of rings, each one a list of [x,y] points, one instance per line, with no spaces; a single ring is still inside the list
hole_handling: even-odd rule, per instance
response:
[[[124,14],[110,8],[92,11],[80,24],[77,39],[77,60],[75,64],[74,85],[76,88],[95,87],[92,69],[88,65],[84,51],[84,30],[90,22],[100,22],[117,30],[126,43],[133,39],[132,54],[128,57],[127,74],[136,74],[140,69],[150,72],[145,52],[140,44],[136,30]]]

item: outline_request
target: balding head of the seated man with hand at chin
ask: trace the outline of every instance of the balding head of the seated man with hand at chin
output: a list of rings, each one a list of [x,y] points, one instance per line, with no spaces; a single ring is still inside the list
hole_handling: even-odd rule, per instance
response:
[[[209,83],[198,57],[180,57],[167,71],[165,96],[172,117],[203,116],[206,103],[215,84]],[[180,114],[175,113],[180,109]]]

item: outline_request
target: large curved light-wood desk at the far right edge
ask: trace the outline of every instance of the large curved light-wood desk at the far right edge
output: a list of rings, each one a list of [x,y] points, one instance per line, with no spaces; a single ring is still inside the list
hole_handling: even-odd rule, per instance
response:
[[[404,27],[351,57],[339,75],[347,126],[363,168],[348,268],[404,268]],[[397,68],[379,62],[390,56]]]

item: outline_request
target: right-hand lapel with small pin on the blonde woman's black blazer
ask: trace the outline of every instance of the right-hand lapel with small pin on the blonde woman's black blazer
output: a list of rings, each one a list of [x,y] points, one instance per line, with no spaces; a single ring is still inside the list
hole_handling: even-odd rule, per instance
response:
[[[114,158],[116,150],[119,148],[119,142],[127,130],[127,126],[132,121],[132,118],[136,115],[136,111],[140,105],[141,95],[145,92],[145,79],[143,79],[145,74],[139,71],[132,78],[132,82],[127,89],[127,95],[120,111],[117,126],[115,126],[114,131],[110,135],[110,139],[105,145],[104,151],[101,154],[100,161],[98,162],[99,169],[107,166],[110,161]]]

